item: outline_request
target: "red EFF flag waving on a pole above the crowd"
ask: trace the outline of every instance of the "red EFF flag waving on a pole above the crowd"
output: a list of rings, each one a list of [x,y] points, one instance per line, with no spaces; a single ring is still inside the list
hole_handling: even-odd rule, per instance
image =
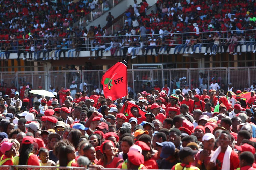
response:
[[[102,76],[104,96],[111,96],[116,100],[128,94],[127,89],[127,62],[122,60],[112,66]]]

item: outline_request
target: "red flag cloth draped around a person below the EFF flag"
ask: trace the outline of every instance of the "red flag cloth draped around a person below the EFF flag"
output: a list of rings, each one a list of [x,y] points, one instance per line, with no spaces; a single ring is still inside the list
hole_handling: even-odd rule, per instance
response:
[[[126,107],[126,109],[125,109],[125,105],[123,105],[123,107],[122,107],[122,109],[121,109],[121,111],[120,111],[120,113],[123,113],[123,114],[126,116],[127,122],[129,121],[129,119],[130,119],[131,117],[135,117],[135,116],[133,116],[132,113],[131,113],[131,108],[132,108],[132,107],[136,107],[136,108],[138,109],[138,111],[139,111],[139,114],[141,115],[140,117],[136,117],[137,120],[138,120],[138,124],[140,124],[142,121],[146,121],[146,117],[145,117],[146,112],[143,111],[143,109],[140,108],[138,105],[135,105],[135,104],[132,104],[132,103],[130,103],[130,102],[127,102],[127,107]],[[125,109],[125,110],[124,110],[124,109]]]

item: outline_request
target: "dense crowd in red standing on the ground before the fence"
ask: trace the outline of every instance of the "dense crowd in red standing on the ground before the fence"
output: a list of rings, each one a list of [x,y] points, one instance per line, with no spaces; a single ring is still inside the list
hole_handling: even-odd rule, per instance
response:
[[[255,84],[246,99],[232,83],[226,90],[155,86],[116,100],[95,88],[73,98],[74,86],[61,97],[50,86],[55,97],[42,94],[35,102],[14,85],[6,89],[10,96],[0,98],[0,165],[256,169]]]

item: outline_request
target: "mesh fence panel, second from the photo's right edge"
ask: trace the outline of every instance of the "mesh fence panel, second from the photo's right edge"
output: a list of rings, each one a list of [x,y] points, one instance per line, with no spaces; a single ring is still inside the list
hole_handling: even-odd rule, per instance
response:
[[[189,72],[189,87],[199,88],[201,84],[206,84],[207,89],[211,89],[211,84],[213,80],[216,80],[219,88],[221,88],[222,83],[225,87],[227,86],[227,68],[226,67],[216,67],[216,68],[190,68]],[[204,86],[205,87],[205,86]],[[203,89],[201,89],[203,90]]]

